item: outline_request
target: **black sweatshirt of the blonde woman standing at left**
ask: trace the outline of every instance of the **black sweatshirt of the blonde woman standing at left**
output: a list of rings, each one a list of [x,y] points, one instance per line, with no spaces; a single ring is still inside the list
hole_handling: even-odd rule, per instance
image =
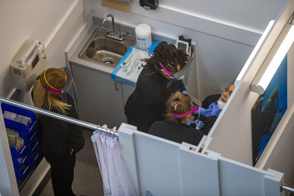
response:
[[[67,94],[68,104],[71,105],[66,116],[79,119],[75,110],[73,98]],[[52,108],[51,112],[62,114],[57,108]],[[57,161],[56,158],[63,158],[70,155],[71,148],[74,153],[80,151],[85,144],[82,128],[72,123],[39,115],[37,118],[38,136],[40,138],[41,150],[47,161]]]

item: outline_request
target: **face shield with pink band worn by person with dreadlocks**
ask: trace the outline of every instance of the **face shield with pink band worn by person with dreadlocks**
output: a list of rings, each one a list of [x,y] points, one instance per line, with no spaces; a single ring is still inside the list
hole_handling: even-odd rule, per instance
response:
[[[192,68],[192,62],[193,62],[193,58],[189,57],[188,61],[183,66],[183,68],[180,69],[179,71],[177,71],[174,74],[172,74],[170,71],[168,71],[168,69],[166,67],[164,67],[161,62],[159,62],[159,64],[160,64],[161,68],[163,69],[163,71],[169,76],[169,81],[167,83],[167,88],[169,86],[171,86],[171,84],[173,83],[174,80],[182,80],[184,86],[187,85],[189,75],[190,75],[190,71],[191,71],[191,68]]]

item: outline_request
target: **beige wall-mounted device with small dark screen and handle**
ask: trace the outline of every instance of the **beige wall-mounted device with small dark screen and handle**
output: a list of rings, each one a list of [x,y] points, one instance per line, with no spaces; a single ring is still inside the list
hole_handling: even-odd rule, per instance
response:
[[[44,43],[29,38],[10,63],[14,88],[28,92],[46,66]]]

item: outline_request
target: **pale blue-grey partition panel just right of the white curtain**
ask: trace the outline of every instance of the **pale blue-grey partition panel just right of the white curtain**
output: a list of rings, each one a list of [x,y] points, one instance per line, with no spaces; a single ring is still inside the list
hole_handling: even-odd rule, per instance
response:
[[[180,144],[135,133],[141,195],[183,195],[179,159]]]

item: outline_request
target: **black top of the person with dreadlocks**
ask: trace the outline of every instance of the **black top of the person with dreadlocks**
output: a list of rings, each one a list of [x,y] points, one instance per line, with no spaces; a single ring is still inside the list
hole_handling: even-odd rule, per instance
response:
[[[125,105],[125,114],[128,124],[137,126],[138,130],[148,133],[152,123],[164,120],[166,100],[178,90],[185,90],[181,80],[174,80],[167,88],[168,79],[160,73],[153,72],[152,68],[143,69],[138,77],[136,89],[128,98]]]

